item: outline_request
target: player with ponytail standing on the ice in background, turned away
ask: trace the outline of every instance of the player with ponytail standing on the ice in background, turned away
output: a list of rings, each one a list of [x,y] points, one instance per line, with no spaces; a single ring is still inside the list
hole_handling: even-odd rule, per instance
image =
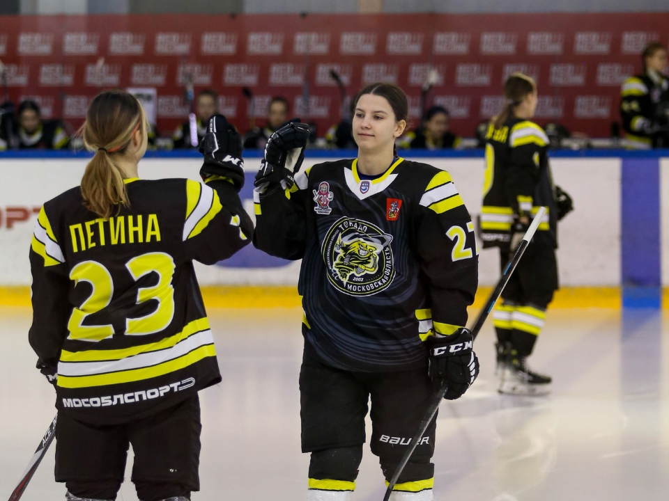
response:
[[[557,200],[548,165],[548,136],[531,120],[537,108],[535,81],[515,73],[507,79],[504,95],[507,104],[486,132],[480,229],[484,248],[500,249],[503,271],[539,207],[548,209],[493,312],[498,389],[534,395],[547,392],[551,383],[549,376],[528,368],[527,358],[557,289],[557,221],[571,210],[571,198],[560,191]]]

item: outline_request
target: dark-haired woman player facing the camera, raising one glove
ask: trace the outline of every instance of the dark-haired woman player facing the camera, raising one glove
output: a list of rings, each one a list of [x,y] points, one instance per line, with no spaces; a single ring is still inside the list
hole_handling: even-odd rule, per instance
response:
[[[308,137],[293,123],[272,134],[256,176],[254,244],[302,259],[307,500],[350,497],[369,397],[371,451],[390,480],[432,382],[447,379],[445,397],[456,399],[478,374],[464,327],[478,278],[474,226],[447,172],[396,156],[407,111],[399,87],[364,88],[352,102],[357,159],[291,173],[287,153]],[[433,498],[434,439],[433,421],[392,499]]]

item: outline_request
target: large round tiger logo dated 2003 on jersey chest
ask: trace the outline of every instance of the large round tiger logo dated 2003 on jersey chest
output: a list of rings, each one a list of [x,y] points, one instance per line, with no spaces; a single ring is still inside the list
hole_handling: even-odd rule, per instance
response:
[[[341,218],[323,241],[330,283],[351,296],[371,296],[392,283],[392,235],[354,218]]]

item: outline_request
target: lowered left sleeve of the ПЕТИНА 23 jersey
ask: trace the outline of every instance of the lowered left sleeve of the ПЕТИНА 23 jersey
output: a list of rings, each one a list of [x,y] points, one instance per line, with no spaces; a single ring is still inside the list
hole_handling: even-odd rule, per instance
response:
[[[28,339],[37,353],[38,369],[44,374],[55,374],[63,342],[68,335],[68,317],[72,306],[68,303],[68,267],[45,207],[40,211],[33,233],[30,269],[33,278],[33,322]]]

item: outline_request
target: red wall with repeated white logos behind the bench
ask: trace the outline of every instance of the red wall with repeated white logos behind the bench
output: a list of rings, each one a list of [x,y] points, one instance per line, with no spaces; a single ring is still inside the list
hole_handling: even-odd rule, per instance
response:
[[[440,81],[429,104],[445,105],[463,136],[500,110],[502,82],[515,71],[537,79],[539,123],[608,136],[620,84],[640,71],[639,54],[654,40],[669,41],[669,13],[0,17],[11,98],[36,98],[45,116],[77,127],[99,90],[155,87],[163,134],[187,114],[185,73],[196,91],[217,90],[222,113],[243,131],[272,95],[284,95],[291,114],[322,135],[339,120],[331,69],[349,95],[374,81],[399,84],[418,118],[434,66]]]

